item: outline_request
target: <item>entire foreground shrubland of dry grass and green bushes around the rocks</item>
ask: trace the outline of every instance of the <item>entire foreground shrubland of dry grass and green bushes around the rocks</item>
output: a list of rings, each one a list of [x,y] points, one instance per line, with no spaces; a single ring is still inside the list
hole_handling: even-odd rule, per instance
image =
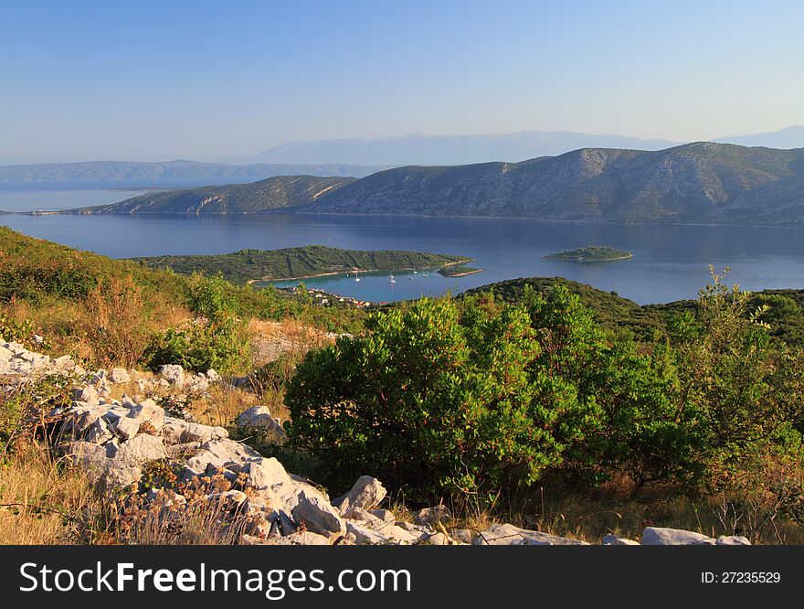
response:
[[[250,373],[248,387],[224,382],[188,408],[240,437],[238,411],[269,404],[290,420],[289,443],[259,450],[333,495],[368,474],[396,511],[444,503],[460,525],[505,519],[598,540],[655,523],[804,542],[798,291],[748,294],[713,273],[696,301],[640,307],[534,278],[368,317],[301,292],[0,229],[0,336],[87,368]],[[255,361],[249,339],[270,324],[298,348]],[[310,328],[349,335],[330,344]],[[29,415],[68,390],[43,382],[0,400],[0,530],[37,543],[215,542],[203,513],[183,536],[137,528],[48,453]]]

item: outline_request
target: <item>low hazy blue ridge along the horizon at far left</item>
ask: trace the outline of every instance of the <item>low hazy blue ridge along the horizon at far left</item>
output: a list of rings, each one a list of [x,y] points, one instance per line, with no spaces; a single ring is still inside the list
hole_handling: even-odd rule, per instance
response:
[[[90,161],[0,166],[0,186],[198,187],[207,184],[249,183],[273,176],[364,177],[385,168],[386,166],[357,167],[342,164],[237,166],[193,161]]]

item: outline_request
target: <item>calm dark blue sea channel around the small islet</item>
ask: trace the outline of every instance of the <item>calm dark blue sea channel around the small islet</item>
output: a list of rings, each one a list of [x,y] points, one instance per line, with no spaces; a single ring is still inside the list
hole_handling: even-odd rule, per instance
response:
[[[96,191],[90,191],[96,192]],[[112,191],[97,191],[112,192]],[[117,192],[117,198],[125,198]],[[74,207],[76,195],[63,208]],[[0,195],[0,209],[3,197]],[[111,201],[105,201],[111,202]],[[7,207],[6,207],[7,208]],[[804,230],[706,226],[572,224],[524,220],[423,219],[307,214],[245,216],[0,216],[0,224],[113,258],[224,253],[321,244],[354,250],[413,250],[475,258],[483,272],[448,279],[434,272],[386,273],[308,280],[370,301],[454,293],[534,275],[563,276],[615,291],[637,303],[692,298],[708,279],[707,265],[732,267],[731,283],[750,290],[804,288]],[[631,251],[627,261],[578,264],[546,261],[556,251],[601,244]]]

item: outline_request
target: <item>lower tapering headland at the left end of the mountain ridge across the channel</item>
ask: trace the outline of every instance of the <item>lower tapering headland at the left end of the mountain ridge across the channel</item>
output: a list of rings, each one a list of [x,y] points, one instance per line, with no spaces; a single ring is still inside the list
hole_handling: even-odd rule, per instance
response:
[[[312,203],[354,177],[277,176],[253,184],[165,190],[120,203],[71,209],[86,214],[257,213]]]

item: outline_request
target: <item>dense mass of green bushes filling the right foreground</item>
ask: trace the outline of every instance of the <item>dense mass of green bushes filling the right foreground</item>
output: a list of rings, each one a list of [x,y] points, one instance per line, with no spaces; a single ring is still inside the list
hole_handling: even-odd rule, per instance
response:
[[[764,315],[714,271],[649,348],[607,337],[563,285],[515,305],[422,299],[308,353],[286,395],[291,440],[335,477],[426,501],[618,480],[800,524],[804,359]]]

